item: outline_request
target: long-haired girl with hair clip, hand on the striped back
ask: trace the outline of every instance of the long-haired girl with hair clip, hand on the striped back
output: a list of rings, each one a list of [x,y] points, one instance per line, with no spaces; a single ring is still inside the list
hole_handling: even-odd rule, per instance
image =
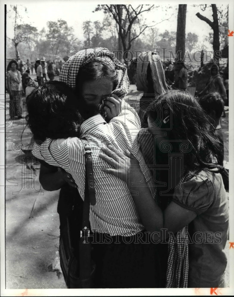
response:
[[[199,103],[183,91],[169,91],[154,101],[148,123],[150,133],[141,131],[139,139],[156,172],[163,210],[129,152],[103,148],[100,157],[114,167],[103,171],[138,192],[134,203],[152,240],[169,238],[167,287],[224,287],[228,201],[220,174],[224,168],[217,164],[221,145]]]

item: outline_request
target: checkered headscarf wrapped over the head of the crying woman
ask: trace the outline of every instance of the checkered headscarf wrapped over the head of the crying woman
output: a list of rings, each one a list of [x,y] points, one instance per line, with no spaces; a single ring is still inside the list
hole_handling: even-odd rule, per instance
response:
[[[76,76],[80,67],[91,61],[102,61],[115,69],[118,77],[118,85],[112,94],[116,94],[122,99],[129,88],[129,80],[127,68],[124,67],[119,60],[116,59],[114,53],[107,48],[87,48],[78,51],[74,56],[71,56],[63,65],[60,72],[59,80],[65,82],[72,89],[76,87]]]

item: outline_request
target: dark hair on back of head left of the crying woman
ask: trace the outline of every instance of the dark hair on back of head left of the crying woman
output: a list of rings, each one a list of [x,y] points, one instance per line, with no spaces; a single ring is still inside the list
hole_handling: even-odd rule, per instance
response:
[[[65,83],[49,81],[26,98],[26,120],[35,140],[77,137],[83,119],[73,106],[76,97]]]

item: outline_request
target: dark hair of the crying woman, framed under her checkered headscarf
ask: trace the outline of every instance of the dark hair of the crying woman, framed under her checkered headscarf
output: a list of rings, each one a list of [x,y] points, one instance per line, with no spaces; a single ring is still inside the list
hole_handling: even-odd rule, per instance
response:
[[[97,80],[99,78],[106,78],[113,82],[113,89],[118,84],[118,77],[115,69],[109,67],[102,61],[91,61],[84,66],[80,67],[76,76],[76,94],[79,96],[81,93],[81,86],[85,81]]]

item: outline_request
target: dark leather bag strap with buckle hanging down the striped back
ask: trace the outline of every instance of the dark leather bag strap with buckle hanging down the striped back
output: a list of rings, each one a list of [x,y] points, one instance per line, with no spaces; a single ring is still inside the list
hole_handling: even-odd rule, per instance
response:
[[[84,145],[85,150],[85,190],[84,190],[84,206],[83,221],[79,243],[79,266],[80,279],[88,279],[91,274],[91,244],[89,241],[89,210],[90,204],[96,204],[95,184],[92,166],[91,148],[88,143]]]

